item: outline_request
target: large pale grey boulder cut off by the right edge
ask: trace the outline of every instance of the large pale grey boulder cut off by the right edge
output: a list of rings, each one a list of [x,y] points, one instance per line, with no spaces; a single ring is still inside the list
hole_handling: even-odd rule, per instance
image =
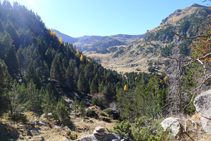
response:
[[[201,93],[194,100],[204,131],[211,134],[211,90]]]

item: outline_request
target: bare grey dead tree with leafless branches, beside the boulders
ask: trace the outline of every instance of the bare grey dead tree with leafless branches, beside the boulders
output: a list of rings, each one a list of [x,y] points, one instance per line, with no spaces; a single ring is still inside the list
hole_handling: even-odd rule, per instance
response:
[[[175,33],[175,32],[174,32]],[[195,39],[195,38],[202,38],[203,36],[195,36],[191,38],[185,38],[180,36],[179,34],[175,33],[178,37],[181,37],[183,39]],[[207,37],[205,35],[204,37]],[[207,39],[206,42],[211,40]],[[201,43],[201,42],[200,42]],[[166,58],[171,60],[171,67],[167,70],[167,72],[170,72],[170,75],[168,76],[169,83],[170,83],[170,89],[168,93],[168,109],[170,113],[176,114],[182,114],[184,110],[192,103],[195,95],[198,91],[202,88],[202,86],[205,84],[207,80],[211,78],[211,73],[207,71],[206,63],[203,62],[204,59],[207,57],[210,57],[211,52],[208,52],[207,54],[198,57],[197,59],[193,59],[187,56],[184,56],[180,54],[180,49],[178,48],[178,45],[172,50],[172,56],[166,56]],[[184,76],[184,70],[185,67],[190,66],[193,63],[198,62],[203,66],[203,77],[202,81],[198,83],[198,86],[189,91],[189,92],[183,92],[181,84],[185,78],[182,80],[182,76]],[[193,93],[190,102],[187,105],[182,105],[183,101],[187,101],[189,99],[190,94]]]

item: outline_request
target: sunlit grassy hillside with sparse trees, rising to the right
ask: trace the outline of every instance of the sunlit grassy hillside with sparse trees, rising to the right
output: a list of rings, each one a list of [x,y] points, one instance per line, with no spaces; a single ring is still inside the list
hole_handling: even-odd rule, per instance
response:
[[[191,40],[178,38],[172,31],[186,37],[194,36],[198,29],[193,27],[202,23],[206,15],[210,13],[208,7],[193,4],[185,9],[176,10],[163,19],[158,27],[149,30],[143,38],[136,42],[110,47],[107,52],[104,51],[103,55],[99,52],[86,52],[85,54],[100,60],[104,67],[118,72],[148,72],[149,62],[153,64],[159,62],[159,66],[153,66],[159,68],[156,71],[162,72],[164,60],[159,58],[164,54],[170,55],[175,44],[179,46],[183,54],[190,55]]]

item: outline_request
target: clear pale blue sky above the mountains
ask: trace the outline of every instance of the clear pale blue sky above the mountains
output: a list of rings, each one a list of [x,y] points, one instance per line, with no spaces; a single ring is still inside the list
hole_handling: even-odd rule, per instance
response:
[[[47,28],[72,37],[143,34],[177,9],[203,0],[9,0],[37,13]]]

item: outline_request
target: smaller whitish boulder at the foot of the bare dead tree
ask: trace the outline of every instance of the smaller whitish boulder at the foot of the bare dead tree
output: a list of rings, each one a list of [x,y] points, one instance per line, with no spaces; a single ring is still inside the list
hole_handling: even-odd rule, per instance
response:
[[[161,122],[161,126],[163,127],[164,131],[166,131],[166,129],[168,127],[170,127],[170,133],[174,136],[174,137],[180,137],[181,134],[181,125],[178,122],[178,120],[176,118],[173,117],[169,117],[164,119]]]

